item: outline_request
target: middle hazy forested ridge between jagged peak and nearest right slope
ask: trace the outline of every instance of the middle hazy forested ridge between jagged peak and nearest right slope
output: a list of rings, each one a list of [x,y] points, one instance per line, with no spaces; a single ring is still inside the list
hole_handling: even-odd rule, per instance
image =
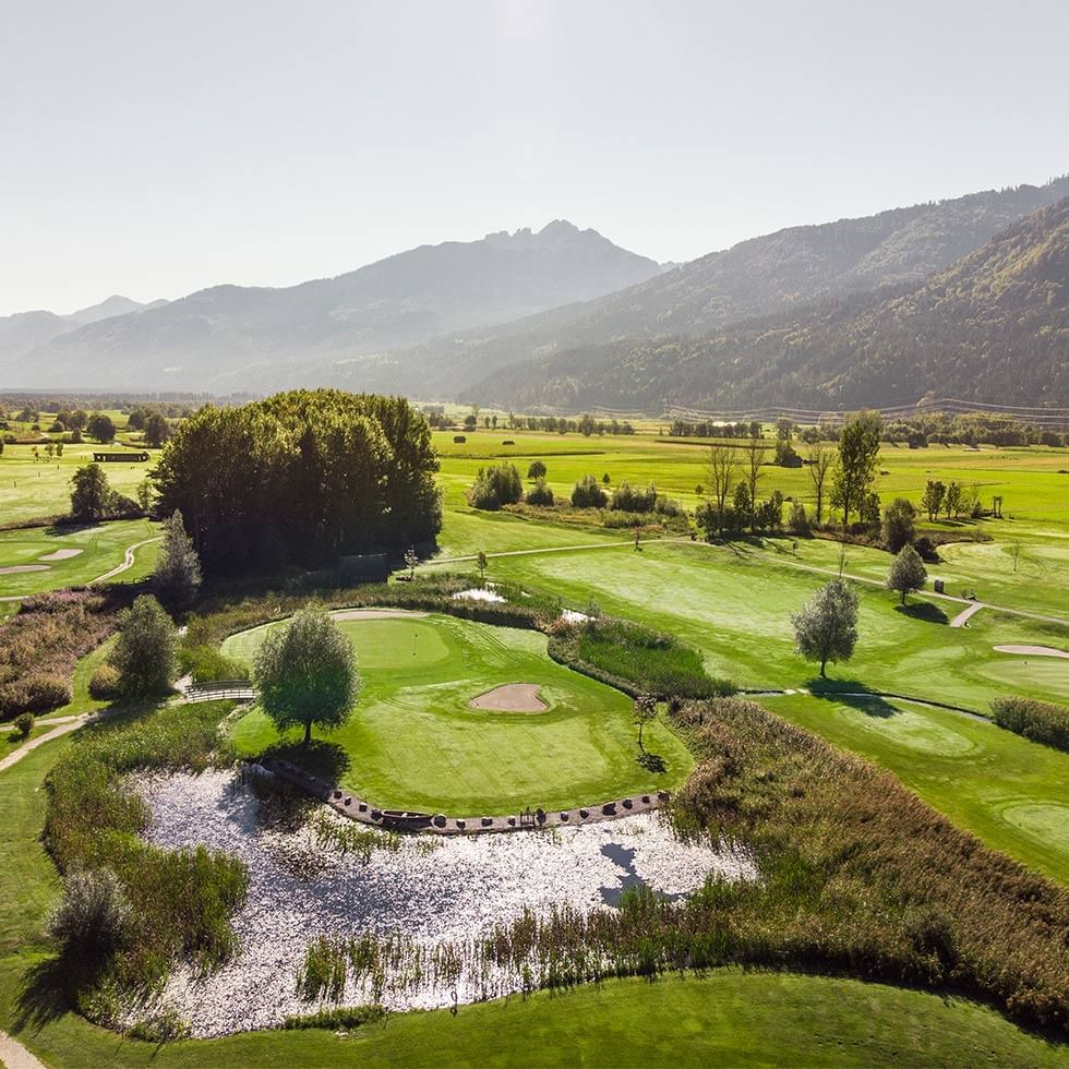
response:
[[[792,227],[743,241],[585,304],[490,331],[436,338],[363,376],[419,396],[449,396],[496,369],[616,338],[702,336],[731,323],[827,297],[915,281],[941,271],[1006,226],[1069,194],[1069,177],[1043,187],[973,193],[860,219]]]

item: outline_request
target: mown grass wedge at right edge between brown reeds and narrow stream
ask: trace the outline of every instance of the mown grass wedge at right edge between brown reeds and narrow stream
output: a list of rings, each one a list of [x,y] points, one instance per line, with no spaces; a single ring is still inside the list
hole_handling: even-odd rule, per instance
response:
[[[995,724],[892,699],[765,698],[868,757],[996,850],[1069,885],[1069,754]]]

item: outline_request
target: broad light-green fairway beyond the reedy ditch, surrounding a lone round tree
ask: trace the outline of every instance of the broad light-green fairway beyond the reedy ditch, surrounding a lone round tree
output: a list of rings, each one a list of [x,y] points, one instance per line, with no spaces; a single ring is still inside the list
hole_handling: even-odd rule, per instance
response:
[[[896,596],[865,586],[858,587],[854,658],[830,666],[831,682],[822,682],[816,666],[794,652],[790,614],[828,577],[762,553],[649,542],[640,553],[624,546],[499,557],[490,574],[554,590],[575,606],[593,600],[613,615],[678,635],[705,651],[713,674],[742,687],[867,686],[982,712],[999,694],[1048,700],[1069,694],[1069,661],[1041,663],[993,649],[1011,642],[1065,647],[1069,628],[987,610],[969,627],[950,628],[901,612]]]

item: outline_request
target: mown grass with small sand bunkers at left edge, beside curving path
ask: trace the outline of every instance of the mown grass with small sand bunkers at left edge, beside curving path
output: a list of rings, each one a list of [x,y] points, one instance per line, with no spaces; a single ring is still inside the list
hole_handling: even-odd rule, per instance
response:
[[[45,565],[45,570],[0,570],[0,597],[38,593],[89,582],[124,562],[132,545],[156,538],[147,519],[112,520],[85,527],[32,527],[0,531],[0,569]],[[116,576],[117,582],[144,578],[153,568],[158,543],[134,551],[133,567]],[[52,557],[47,560],[47,557]],[[57,558],[58,557],[58,558]]]

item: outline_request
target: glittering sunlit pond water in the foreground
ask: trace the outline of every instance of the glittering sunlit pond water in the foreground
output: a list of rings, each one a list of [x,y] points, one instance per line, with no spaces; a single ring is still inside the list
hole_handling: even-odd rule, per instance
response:
[[[430,842],[405,837],[398,849],[377,849],[363,863],[352,853],[322,848],[308,828],[289,832],[261,827],[260,803],[232,772],[179,773],[135,783],[152,807],[153,842],[170,848],[203,843],[249,866],[249,899],[235,918],[242,940],[239,957],[202,980],[181,966],[163,995],[163,1002],[201,1036],[271,1028],[287,1014],[316,1009],[298,997],[295,982],[308,944],[320,935],[396,932],[434,946],[467,940],[495,922],[519,916],[525,906],[603,906],[637,880],[674,896],[700,887],[712,872],[756,877],[745,854],[683,843],[656,815],[554,833]],[[326,819],[344,819],[324,812]],[[351,987],[350,982],[346,1002],[368,1000],[367,992]],[[492,994],[511,989],[518,989],[515,982],[502,977]],[[476,988],[465,977],[456,992],[461,1001],[488,994],[485,986]],[[387,989],[384,997],[394,1009],[452,1001],[452,985],[446,990],[430,981],[415,992]]]

